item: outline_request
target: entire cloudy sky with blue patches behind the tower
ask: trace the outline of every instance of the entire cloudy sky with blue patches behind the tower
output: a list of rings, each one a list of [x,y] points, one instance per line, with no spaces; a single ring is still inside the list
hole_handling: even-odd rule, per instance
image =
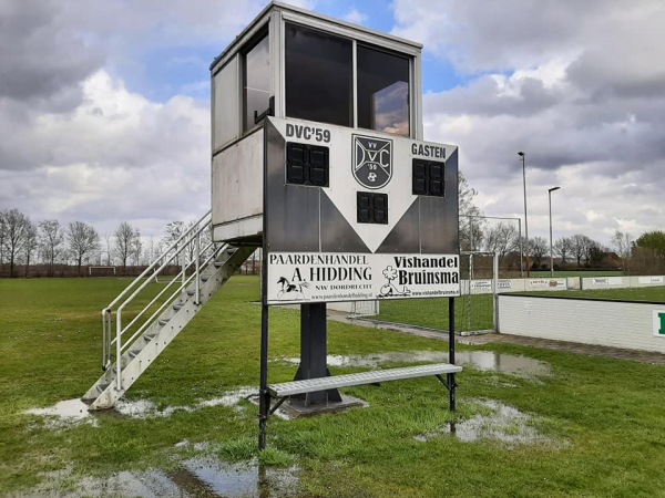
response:
[[[487,216],[665,229],[662,0],[299,0],[420,42],[424,138]],[[211,206],[209,64],[266,0],[0,0],[0,209],[160,239]]]

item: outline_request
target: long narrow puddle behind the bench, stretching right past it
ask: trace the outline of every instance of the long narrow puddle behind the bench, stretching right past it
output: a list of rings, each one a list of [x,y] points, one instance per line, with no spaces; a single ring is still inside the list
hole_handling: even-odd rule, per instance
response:
[[[516,377],[532,378],[551,375],[552,370],[545,362],[528,356],[500,354],[492,351],[458,351],[456,363],[472,366],[483,372],[497,372]],[[285,359],[286,362],[298,364],[298,359]],[[398,353],[380,353],[367,356],[328,355],[329,366],[366,366],[376,367],[380,363],[412,363],[412,362],[448,362],[448,353],[440,351],[407,351]]]

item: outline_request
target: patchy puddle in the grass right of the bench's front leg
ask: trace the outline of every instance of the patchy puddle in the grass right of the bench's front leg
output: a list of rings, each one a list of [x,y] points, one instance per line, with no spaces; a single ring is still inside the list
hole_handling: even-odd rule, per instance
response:
[[[533,427],[531,415],[493,400],[481,400],[478,403],[490,409],[491,413],[450,424],[433,434],[416,436],[415,439],[426,443],[441,434],[450,434],[463,443],[491,439],[508,446],[553,444],[552,439],[543,436]]]

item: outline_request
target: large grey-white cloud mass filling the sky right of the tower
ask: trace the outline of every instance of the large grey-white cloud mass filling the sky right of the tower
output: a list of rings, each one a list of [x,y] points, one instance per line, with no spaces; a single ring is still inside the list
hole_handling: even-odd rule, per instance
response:
[[[601,241],[665,214],[665,4],[396,0],[393,33],[424,44],[462,83],[423,98],[426,138],[458,144],[488,215],[523,216]],[[601,14],[602,13],[602,14]],[[532,219],[533,218],[533,219]],[[539,227],[539,228],[535,228]]]

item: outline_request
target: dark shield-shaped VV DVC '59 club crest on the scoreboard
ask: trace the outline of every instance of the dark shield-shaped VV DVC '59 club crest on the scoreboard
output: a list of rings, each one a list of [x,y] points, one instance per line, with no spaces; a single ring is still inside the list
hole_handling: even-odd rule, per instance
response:
[[[354,178],[366,188],[381,188],[392,178],[392,141],[354,135]]]

